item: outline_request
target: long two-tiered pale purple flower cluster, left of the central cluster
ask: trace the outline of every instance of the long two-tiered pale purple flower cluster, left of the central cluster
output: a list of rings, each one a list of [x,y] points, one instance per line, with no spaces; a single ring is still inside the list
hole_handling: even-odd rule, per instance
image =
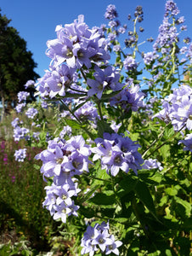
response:
[[[88,172],[90,154],[91,150],[82,136],[71,137],[68,141],[54,138],[48,142],[48,149],[37,154],[36,159],[42,160],[43,177],[53,178],[52,185],[46,187],[43,205],[54,219],[61,218],[65,222],[67,216],[77,216],[79,207],[71,196],[77,195],[80,189],[77,189],[74,175]]]

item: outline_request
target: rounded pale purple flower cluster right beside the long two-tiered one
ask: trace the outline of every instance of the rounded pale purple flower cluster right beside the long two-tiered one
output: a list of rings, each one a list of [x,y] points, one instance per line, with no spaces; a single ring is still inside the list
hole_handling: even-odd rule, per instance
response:
[[[95,143],[93,161],[100,159],[102,169],[106,169],[108,174],[116,176],[120,170],[129,172],[130,169],[137,174],[141,169],[144,160],[138,153],[140,146],[129,137],[104,133],[104,138],[97,138]]]

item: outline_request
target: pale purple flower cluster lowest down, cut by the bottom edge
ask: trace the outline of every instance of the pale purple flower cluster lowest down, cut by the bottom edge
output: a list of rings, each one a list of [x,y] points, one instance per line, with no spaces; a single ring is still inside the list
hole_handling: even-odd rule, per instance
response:
[[[93,256],[94,252],[101,250],[102,253],[108,255],[115,253],[119,255],[118,247],[121,247],[122,242],[116,241],[115,236],[109,233],[109,223],[95,224],[94,227],[88,226],[84,236],[82,237],[82,254],[89,253]]]

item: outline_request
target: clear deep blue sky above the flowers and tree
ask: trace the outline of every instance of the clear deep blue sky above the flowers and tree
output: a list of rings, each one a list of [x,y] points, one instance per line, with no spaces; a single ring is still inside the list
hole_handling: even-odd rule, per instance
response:
[[[78,15],[85,16],[85,22],[91,28],[100,26],[108,21],[104,19],[106,7],[111,3],[116,5],[121,25],[128,23],[127,15],[133,15],[138,5],[144,9],[144,38],[156,38],[158,28],[164,15],[166,0],[1,0],[2,15],[11,19],[10,26],[14,26],[20,37],[27,42],[27,49],[31,50],[34,61],[37,62],[36,72],[42,76],[48,69],[50,59],[45,55],[48,39],[56,38],[55,27],[71,23]],[[175,0],[180,9],[180,15],[185,18],[188,26],[187,35],[192,38],[192,0]],[[129,28],[129,27],[128,27]],[[130,27],[131,30],[132,27]],[[146,46],[148,47],[148,46]],[[145,51],[152,50],[150,48]]]

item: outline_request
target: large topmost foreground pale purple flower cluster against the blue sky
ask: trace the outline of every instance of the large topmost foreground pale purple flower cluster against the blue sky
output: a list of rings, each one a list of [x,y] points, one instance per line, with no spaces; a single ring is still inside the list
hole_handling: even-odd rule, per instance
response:
[[[64,27],[55,29],[57,38],[48,40],[46,54],[52,59],[51,64],[58,67],[66,62],[70,68],[80,68],[83,65],[91,67],[91,61],[106,61],[110,55],[104,49],[104,38],[97,29],[89,29],[84,22],[84,16]]]

